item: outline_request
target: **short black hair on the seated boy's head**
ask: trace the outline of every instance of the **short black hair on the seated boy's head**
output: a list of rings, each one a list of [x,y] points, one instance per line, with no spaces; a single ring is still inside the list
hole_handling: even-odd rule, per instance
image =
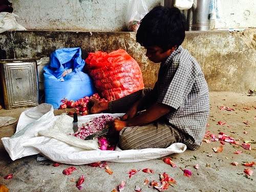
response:
[[[182,44],[185,30],[186,19],[178,8],[158,6],[141,20],[136,41],[143,47],[159,46],[166,51]]]

